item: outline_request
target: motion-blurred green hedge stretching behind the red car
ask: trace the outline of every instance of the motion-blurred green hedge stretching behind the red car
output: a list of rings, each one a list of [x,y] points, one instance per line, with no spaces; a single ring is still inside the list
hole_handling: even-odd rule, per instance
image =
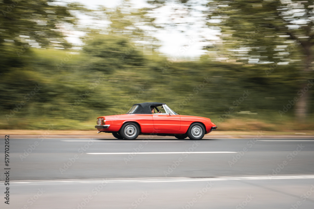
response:
[[[32,49],[33,60],[26,66],[3,73],[0,128],[47,129],[53,124],[55,129],[89,129],[97,116],[123,114],[134,103],[148,101],[166,102],[180,114],[208,117],[217,124],[243,117],[277,121],[283,120],[278,113],[282,104],[297,96],[293,81],[278,78],[285,72],[285,65],[266,76],[268,65],[169,62],[163,57],[146,56],[116,36],[104,35],[89,43],[80,53]],[[112,46],[116,51],[108,50]],[[120,58],[127,46],[132,48],[128,59],[140,59],[140,65]],[[90,67],[98,61],[95,57],[110,65],[110,71]],[[39,91],[31,95],[36,86]],[[241,101],[244,92],[248,97]],[[273,116],[267,112],[274,112]],[[288,111],[284,118],[291,113]]]

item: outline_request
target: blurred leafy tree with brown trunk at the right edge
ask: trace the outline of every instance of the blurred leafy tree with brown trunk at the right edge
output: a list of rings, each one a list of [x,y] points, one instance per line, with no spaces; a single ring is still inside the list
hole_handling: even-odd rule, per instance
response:
[[[219,44],[225,48],[226,59],[250,64],[270,63],[269,70],[265,71],[267,75],[273,73],[278,64],[297,63],[299,75],[291,79],[300,90],[306,90],[308,80],[313,78],[313,3],[215,0],[208,1],[206,13],[208,25],[221,29]],[[281,75],[282,79],[285,75]],[[298,97],[295,113],[297,118],[304,119],[308,115],[310,93]]]

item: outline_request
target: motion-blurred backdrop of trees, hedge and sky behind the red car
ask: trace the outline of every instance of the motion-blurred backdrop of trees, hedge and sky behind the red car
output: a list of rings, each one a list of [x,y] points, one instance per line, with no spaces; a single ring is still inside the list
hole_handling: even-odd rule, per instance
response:
[[[314,1],[0,0],[0,129],[165,102],[220,130],[312,130]]]

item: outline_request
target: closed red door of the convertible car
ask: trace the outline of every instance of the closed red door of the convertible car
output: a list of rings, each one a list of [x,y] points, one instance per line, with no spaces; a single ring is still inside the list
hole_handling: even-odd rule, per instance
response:
[[[180,130],[180,115],[154,114],[153,121],[156,130]]]

